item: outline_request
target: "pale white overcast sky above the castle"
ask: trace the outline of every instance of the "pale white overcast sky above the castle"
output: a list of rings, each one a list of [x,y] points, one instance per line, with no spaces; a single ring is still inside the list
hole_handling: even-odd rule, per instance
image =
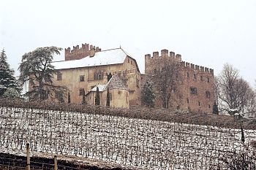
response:
[[[255,0],[0,1],[0,48],[15,70],[37,47],[121,45],[142,73],[145,54],[167,49],[215,74],[233,64],[255,86]]]

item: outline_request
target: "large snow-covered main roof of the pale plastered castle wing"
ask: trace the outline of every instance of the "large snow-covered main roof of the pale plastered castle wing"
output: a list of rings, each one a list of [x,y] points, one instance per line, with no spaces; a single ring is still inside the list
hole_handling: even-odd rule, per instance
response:
[[[97,52],[93,57],[87,56],[85,58],[73,61],[56,61],[53,62],[53,66],[55,66],[55,69],[104,66],[110,64],[124,63],[127,55],[128,54],[123,49],[116,48]]]

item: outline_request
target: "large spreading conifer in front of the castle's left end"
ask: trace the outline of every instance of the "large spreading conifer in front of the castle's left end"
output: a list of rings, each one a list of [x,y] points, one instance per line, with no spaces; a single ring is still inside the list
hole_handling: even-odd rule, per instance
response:
[[[59,55],[60,50],[59,47],[39,47],[22,56],[19,80],[22,85],[29,82],[29,91],[25,94],[29,100],[46,100],[53,98],[54,93],[58,94],[57,99],[64,100],[67,88],[53,85],[53,75],[59,73],[52,65],[53,55]]]

